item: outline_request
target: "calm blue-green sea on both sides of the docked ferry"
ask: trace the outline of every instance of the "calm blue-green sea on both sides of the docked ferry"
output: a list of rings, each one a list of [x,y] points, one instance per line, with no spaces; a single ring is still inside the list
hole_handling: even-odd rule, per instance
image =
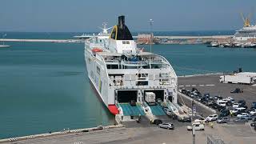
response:
[[[18,33],[7,37],[45,38],[42,35]],[[6,44],[11,47],[0,49],[0,138],[114,123],[114,117],[90,86],[82,43]],[[165,56],[178,75],[232,71],[238,67],[256,71],[255,49],[154,45],[152,50]]]

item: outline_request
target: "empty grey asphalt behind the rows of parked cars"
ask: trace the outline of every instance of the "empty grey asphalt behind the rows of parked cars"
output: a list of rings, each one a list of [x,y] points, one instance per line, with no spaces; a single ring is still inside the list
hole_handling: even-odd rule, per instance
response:
[[[222,98],[233,97],[236,101],[246,100],[246,106],[250,108],[252,102],[256,102],[256,86],[220,83],[218,74],[194,77],[179,77],[178,88],[191,90],[197,88],[202,94],[209,93],[212,96],[219,95]],[[240,88],[243,93],[232,94],[231,90]]]

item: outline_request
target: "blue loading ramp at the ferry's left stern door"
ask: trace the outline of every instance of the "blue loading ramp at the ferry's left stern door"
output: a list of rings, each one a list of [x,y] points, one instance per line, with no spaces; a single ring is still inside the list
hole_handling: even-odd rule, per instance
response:
[[[142,106],[138,103],[136,104],[136,106],[130,106],[130,103],[118,103],[118,106],[122,108],[122,113],[124,116],[145,115],[144,111],[142,110]]]

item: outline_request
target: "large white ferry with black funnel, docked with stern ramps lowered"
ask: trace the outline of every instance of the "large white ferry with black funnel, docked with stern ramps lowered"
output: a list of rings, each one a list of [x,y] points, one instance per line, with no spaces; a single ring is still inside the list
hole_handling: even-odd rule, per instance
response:
[[[158,102],[177,104],[174,69],[161,55],[138,49],[124,16],[110,34],[104,27],[86,39],[85,59],[90,82],[112,114],[143,115],[149,110],[161,115]],[[146,94],[153,94],[154,106],[146,102]]]

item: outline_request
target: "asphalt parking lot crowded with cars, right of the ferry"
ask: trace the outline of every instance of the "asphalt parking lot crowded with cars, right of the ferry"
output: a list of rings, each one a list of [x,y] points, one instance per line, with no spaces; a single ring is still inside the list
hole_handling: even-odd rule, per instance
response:
[[[216,110],[219,117],[228,117],[232,122],[236,121],[238,118],[236,116],[238,115],[240,117],[243,112],[247,113],[247,115],[245,114],[245,117],[249,121],[255,120],[256,114],[250,114],[250,110],[256,108],[255,106],[252,106],[252,103],[256,102],[256,87],[250,85],[220,83],[218,82],[218,78],[219,75],[217,74],[178,78],[179,91],[182,93],[178,94],[179,102],[185,102],[187,106],[191,107],[190,98],[194,99],[194,101],[198,101],[196,102],[197,113],[202,114],[205,118],[207,115],[212,114],[213,112],[207,108],[203,108],[204,106],[202,106],[202,103],[203,105],[210,107],[212,110]],[[194,93],[192,89],[196,93]],[[235,89],[242,90],[243,92],[230,93]],[[233,102],[230,100],[232,98]],[[246,104],[241,102],[241,100],[246,102]],[[224,102],[221,105],[221,102],[223,101],[227,102]],[[233,104],[236,104],[236,102],[239,103],[236,106],[239,107],[238,109],[242,109],[241,111],[235,111],[235,105]],[[225,112],[226,115],[224,115]],[[234,117],[231,118],[231,114]]]

